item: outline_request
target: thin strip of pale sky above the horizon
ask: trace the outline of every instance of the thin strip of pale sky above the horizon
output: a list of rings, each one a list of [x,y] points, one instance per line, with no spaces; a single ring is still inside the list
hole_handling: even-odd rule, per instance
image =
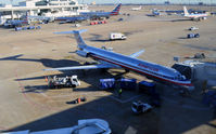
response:
[[[0,0],[0,3],[18,3],[24,0]],[[78,0],[79,3],[91,3],[96,1],[96,3],[163,3],[166,0]],[[216,0],[169,0],[171,3],[216,3]]]

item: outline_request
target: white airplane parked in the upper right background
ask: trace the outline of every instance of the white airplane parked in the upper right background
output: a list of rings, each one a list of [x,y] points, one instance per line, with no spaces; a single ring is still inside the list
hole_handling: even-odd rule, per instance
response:
[[[186,6],[183,6],[183,16],[191,18],[192,21],[201,21],[201,19],[206,19],[207,14],[206,13],[190,13],[188,12],[188,10],[186,9]]]

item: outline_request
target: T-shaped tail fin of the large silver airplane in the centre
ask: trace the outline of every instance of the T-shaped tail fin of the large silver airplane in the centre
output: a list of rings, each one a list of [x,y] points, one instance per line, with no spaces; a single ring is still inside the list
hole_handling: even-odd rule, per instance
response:
[[[78,48],[81,49],[82,46],[86,46],[84,39],[81,38],[80,34],[87,31],[87,29],[81,30],[72,30],[72,31],[62,31],[62,32],[54,32],[54,34],[73,34],[76,42],[78,44]]]

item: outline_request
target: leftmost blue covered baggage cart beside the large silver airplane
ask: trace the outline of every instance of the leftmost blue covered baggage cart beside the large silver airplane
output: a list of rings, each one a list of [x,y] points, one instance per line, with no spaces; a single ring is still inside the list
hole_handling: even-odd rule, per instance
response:
[[[115,79],[100,79],[100,86],[103,90],[115,88]]]

